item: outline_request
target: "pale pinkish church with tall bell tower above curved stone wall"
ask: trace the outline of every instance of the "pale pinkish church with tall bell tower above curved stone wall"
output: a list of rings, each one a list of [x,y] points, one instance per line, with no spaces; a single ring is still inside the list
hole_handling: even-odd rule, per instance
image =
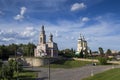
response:
[[[53,42],[53,35],[49,35],[49,40],[46,42],[46,34],[44,30],[44,26],[41,28],[41,32],[39,35],[39,43],[34,50],[35,57],[58,57],[58,46],[57,43]]]

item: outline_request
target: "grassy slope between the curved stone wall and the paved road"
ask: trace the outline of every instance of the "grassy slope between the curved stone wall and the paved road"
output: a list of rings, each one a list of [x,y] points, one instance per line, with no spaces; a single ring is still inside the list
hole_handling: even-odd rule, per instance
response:
[[[75,60],[59,60],[50,64],[51,68],[77,68],[81,66],[85,66],[87,64],[91,64],[91,62],[87,61],[75,61]],[[45,65],[43,67],[48,67]]]

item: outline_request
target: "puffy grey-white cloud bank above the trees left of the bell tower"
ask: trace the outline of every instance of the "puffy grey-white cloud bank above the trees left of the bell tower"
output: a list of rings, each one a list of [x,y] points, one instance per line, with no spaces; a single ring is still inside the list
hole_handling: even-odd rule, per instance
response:
[[[17,31],[17,30],[0,30],[0,43],[13,43],[15,41],[30,41],[31,39],[34,39],[33,37],[36,37],[37,30],[33,27],[26,27],[23,31]],[[19,42],[18,42],[19,43]]]

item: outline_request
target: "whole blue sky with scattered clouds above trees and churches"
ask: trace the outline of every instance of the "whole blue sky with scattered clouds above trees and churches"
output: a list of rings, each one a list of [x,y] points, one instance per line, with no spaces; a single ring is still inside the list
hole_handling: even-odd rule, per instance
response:
[[[120,0],[0,0],[0,45],[38,44],[41,26],[59,49],[77,49],[82,34],[91,50],[120,51]],[[48,40],[47,40],[48,41]]]

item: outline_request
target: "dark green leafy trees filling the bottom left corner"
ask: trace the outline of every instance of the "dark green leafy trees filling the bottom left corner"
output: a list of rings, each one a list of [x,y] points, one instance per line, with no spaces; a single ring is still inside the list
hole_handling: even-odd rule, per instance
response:
[[[7,65],[2,65],[0,68],[0,78],[10,80],[13,78],[15,72],[21,72],[22,66],[16,60],[9,60]]]

